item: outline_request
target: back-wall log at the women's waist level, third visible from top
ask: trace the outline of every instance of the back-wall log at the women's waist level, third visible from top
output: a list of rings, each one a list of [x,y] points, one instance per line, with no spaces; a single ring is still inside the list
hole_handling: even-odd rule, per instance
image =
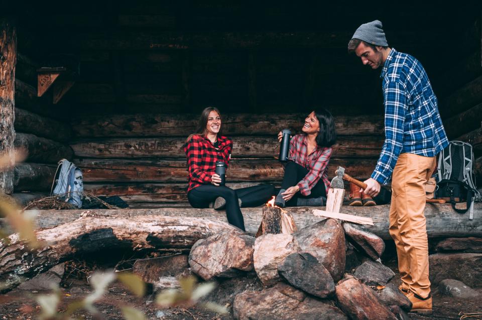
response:
[[[187,183],[185,160],[76,159],[87,182],[184,182]],[[376,159],[331,159],[328,175],[334,176],[338,166],[346,168],[358,179],[370,177]],[[349,170],[349,171],[348,171]],[[228,182],[281,181],[283,165],[277,160],[233,160],[226,172]]]

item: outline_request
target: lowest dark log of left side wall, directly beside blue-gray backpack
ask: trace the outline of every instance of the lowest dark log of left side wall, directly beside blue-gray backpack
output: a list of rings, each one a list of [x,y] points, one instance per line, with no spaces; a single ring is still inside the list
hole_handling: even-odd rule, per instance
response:
[[[50,192],[56,165],[18,163],[14,169],[14,190]]]

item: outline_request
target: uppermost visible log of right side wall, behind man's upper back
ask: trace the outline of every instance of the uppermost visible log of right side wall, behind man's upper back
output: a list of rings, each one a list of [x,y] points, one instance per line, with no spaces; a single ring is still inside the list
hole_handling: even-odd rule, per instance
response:
[[[440,102],[442,119],[453,117],[482,101],[482,76],[470,81]]]

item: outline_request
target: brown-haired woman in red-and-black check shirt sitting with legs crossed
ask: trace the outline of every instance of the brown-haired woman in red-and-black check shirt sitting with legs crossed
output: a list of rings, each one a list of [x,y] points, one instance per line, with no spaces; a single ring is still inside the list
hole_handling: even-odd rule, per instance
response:
[[[227,221],[245,231],[240,206],[258,206],[275,193],[272,185],[257,185],[233,190],[220,185],[215,173],[216,161],[229,163],[232,140],[221,134],[219,110],[210,106],[202,111],[199,125],[184,145],[189,172],[187,198],[195,208],[207,208],[214,201],[215,209],[226,208]]]

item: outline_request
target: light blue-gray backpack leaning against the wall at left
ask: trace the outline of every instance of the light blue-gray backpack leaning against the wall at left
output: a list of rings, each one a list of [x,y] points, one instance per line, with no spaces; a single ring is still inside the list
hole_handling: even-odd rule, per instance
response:
[[[58,195],[59,198],[65,200],[65,202],[81,208],[82,199],[84,198],[82,171],[72,162],[66,159],[60,160],[57,171],[55,172],[50,195]]]

